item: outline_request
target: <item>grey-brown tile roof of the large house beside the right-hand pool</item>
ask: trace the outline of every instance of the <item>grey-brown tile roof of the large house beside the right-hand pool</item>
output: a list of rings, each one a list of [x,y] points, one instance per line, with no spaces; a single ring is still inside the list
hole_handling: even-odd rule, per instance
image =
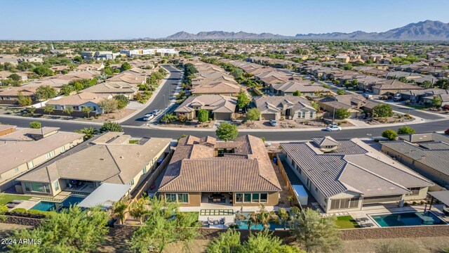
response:
[[[406,188],[433,185],[358,139],[338,143],[333,153],[322,153],[309,142],[281,146],[326,197],[346,190],[366,196],[404,194]]]

